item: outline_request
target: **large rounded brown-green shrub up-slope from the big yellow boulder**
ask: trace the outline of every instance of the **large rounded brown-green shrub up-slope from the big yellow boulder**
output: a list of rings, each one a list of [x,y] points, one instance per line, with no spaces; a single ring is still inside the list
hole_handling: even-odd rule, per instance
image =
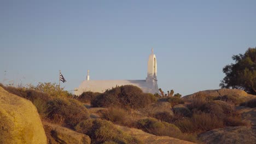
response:
[[[86,107],[74,99],[54,99],[48,101],[48,118],[54,123],[64,124],[73,128],[80,121],[89,118]]]

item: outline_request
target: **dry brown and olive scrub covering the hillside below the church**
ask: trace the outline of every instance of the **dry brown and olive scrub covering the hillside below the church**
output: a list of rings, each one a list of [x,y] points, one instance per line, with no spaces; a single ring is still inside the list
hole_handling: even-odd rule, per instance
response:
[[[115,124],[200,143],[197,135],[205,131],[241,125],[248,127],[249,123],[243,121],[235,106],[255,107],[255,99],[241,100],[234,94],[211,97],[199,92],[187,100],[177,96],[155,97],[135,86],[115,87],[104,93],[85,92],[78,98],[53,83],[39,83],[36,87],[1,87],[31,100],[43,121],[88,135],[91,143],[143,143],[139,137],[115,128]],[[48,91],[49,87],[51,91]],[[93,107],[106,107],[93,113],[97,119],[91,119],[90,109],[85,107],[89,101]]]

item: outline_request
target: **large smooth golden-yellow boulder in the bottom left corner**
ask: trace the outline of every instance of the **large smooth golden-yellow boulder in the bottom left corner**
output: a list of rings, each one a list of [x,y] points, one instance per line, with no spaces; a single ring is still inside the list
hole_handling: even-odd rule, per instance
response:
[[[47,143],[36,106],[2,87],[0,128],[0,143]]]

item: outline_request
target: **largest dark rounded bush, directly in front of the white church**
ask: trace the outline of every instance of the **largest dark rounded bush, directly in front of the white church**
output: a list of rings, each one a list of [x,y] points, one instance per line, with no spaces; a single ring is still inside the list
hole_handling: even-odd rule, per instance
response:
[[[153,94],[143,93],[136,86],[126,85],[110,89],[91,101],[92,107],[119,106],[138,109],[156,101]]]

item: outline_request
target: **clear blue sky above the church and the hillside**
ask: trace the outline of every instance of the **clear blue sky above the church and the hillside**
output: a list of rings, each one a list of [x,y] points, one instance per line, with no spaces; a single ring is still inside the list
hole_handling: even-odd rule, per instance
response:
[[[256,1],[3,1],[0,82],[147,77],[151,48],[158,85],[187,95],[218,89],[231,56],[256,46]],[[6,72],[5,72],[6,71]]]

